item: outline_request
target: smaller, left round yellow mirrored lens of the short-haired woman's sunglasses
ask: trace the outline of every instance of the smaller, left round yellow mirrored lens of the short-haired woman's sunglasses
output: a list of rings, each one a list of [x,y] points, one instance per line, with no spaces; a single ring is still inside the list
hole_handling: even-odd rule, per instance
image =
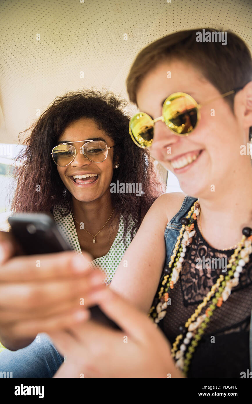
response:
[[[136,145],[145,149],[153,141],[153,122],[149,115],[139,112],[130,120],[129,131]]]

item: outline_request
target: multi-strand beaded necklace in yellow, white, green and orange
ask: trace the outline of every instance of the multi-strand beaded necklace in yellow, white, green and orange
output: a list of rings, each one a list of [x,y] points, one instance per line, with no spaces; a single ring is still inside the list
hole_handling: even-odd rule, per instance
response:
[[[178,281],[187,247],[191,245],[193,236],[196,233],[194,223],[199,213],[200,206],[199,200],[197,200],[189,210],[187,217],[181,219],[182,227],[179,231],[168,267],[164,270],[166,275],[158,292],[158,303],[153,305],[149,311],[149,316],[156,324],[166,315],[167,307],[170,304],[169,292]],[[198,305],[195,312],[187,320],[185,327],[179,327],[181,334],[176,337],[172,345],[172,357],[176,361],[176,366],[181,369],[185,376],[189,370],[193,353],[210,322],[210,317],[213,315],[214,310],[228,299],[231,289],[239,284],[240,273],[244,265],[250,260],[249,256],[252,253],[252,229],[244,227],[242,234],[241,241],[237,244],[237,248],[235,248],[227,264],[227,268],[229,269],[228,274],[225,278],[222,274],[219,276],[216,284],[212,286],[206,297],[204,297],[203,302]],[[210,299],[212,300],[210,305],[207,307],[205,313],[201,314],[202,309],[206,307]]]

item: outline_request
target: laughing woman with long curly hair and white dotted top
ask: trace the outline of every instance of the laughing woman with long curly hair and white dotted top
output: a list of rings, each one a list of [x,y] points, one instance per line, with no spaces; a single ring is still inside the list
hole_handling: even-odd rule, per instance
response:
[[[79,255],[82,250],[92,255],[91,267],[103,270],[107,284],[143,217],[165,191],[149,151],[135,147],[128,136],[125,106],[113,94],[95,90],[56,99],[29,128],[12,204],[15,212],[50,211],[72,249]],[[111,185],[118,182],[125,184],[126,192],[111,192]],[[132,192],[132,184],[138,192]],[[60,290],[59,286],[56,295]],[[67,308],[77,309],[76,302],[74,297]],[[66,322],[63,304],[59,311]],[[44,314],[40,312],[43,318]],[[38,328],[34,337],[43,330]],[[25,347],[33,339],[21,342],[17,331],[10,333],[6,323],[2,328],[0,324],[0,340],[10,349]],[[3,351],[0,367],[3,370],[4,364],[13,363],[13,377],[50,377],[57,370],[55,363],[59,366],[62,360],[41,335],[39,345],[34,341],[16,353]]]

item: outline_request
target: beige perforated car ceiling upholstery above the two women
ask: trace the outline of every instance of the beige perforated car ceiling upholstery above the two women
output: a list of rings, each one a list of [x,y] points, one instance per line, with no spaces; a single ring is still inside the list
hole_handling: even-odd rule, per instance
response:
[[[232,29],[252,48],[251,0],[1,0],[0,14],[0,143],[17,143],[67,91],[104,87],[127,97],[134,57],[168,33]]]

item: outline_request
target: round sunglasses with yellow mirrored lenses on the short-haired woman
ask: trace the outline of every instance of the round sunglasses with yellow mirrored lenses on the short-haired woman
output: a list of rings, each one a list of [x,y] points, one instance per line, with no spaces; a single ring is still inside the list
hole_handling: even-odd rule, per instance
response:
[[[219,95],[205,103],[198,104],[191,95],[186,93],[173,93],[164,101],[162,116],[152,119],[145,112],[138,112],[130,119],[129,133],[136,145],[146,149],[150,147],[154,136],[154,124],[162,121],[178,136],[188,136],[197,126],[200,119],[200,108],[216,99],[227,97],[241,90],[235,88],[225,94]]]

